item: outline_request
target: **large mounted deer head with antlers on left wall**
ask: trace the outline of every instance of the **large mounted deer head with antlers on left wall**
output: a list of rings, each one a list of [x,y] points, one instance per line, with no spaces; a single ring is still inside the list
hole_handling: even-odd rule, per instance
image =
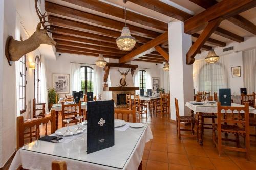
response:
[[[9,36],[6,40],[5,55],[9,65],[12,65],[12,61],[18,61],[23,55],[38,48],[40,44],[57,45],[47,34],[47,32],[52,31],[51,28],[48,28],[50,25],[45,25],[48,22],[45,19],[48,15],[46,13],[42,14],[39,11],[37,1],[35,0],[35,9],[40,22],[37,24],[36,31],[25,41],[14,40],[12,36]],[[44,29],[41,29],[41,25]]]

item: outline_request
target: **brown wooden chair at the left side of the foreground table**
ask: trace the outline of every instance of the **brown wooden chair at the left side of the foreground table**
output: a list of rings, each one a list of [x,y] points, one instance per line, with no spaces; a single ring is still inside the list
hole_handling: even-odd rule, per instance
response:
[[[24,139],[29,138],[29,142],[31,143],[33,137],[35,137],[35,139],[40,138],[39,126],[41,124],[45,124],[45,135],[47,135],[48,122],[51,122],[51,134],[52,134],[56,130],[55,110],[52,110],[51,116],[48,116],[48,117],[32,118],[28,120],[24,120],[23,116],[17,117],[17,149],[19,149],[20,147],[23,147]],[[35,131],[32,131],[32,129],[34,128],[35,128]],[[25,132],[28,129],[30,130],[30,132]],[[28,134],[29,136],[27,136]]]

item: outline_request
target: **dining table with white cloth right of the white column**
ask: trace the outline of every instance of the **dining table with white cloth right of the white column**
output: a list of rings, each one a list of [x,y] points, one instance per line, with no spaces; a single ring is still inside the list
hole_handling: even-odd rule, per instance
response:
[[[203,113],[217,113],[217,102],[208,101],[208,102],[195,102],[190,101],[186,102],[185,106],[187,106],[191,110],[191,116],[193,114],[198,115],[198,141],[200,145],[203,145]],[[244,105],[231,103],[233,107],[244,107]],[[229,113],[229,112],[227,112]],[[249,107],[249,113],[256,114],[256,109],[253,107]]]

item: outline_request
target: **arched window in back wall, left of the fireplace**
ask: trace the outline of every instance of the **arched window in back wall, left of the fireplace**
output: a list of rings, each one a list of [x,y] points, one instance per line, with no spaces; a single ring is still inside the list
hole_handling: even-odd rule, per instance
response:
[[[81,87],[83,93],[93,92],[94,70],[89,66],[81,66]]]

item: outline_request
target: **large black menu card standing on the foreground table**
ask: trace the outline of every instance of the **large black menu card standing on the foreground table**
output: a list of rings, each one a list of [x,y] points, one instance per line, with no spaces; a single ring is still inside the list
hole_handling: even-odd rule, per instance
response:
[[[114,146],[114,100],[88,102],[87,118],[87,153]]]

